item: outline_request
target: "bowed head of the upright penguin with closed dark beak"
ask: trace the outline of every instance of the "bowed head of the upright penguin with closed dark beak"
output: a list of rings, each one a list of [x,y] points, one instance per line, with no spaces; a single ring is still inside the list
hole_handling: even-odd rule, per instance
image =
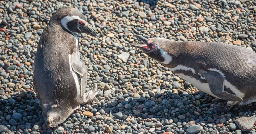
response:
[[[71,33],[87,33],[96,36],[96,32],[87,25],[87,17],[75,8],[57,10],[49,22],[50,25],[53,23],[60,24],[62,29]]]

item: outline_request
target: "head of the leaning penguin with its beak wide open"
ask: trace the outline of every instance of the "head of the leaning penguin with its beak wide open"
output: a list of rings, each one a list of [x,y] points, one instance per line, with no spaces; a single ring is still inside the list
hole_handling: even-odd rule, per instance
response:
[[[147,39],[140,35],[134,35],[134,37],[136,37],[145,44],[131,44],[132,46],[142,49],[145,54],[147,54],[152,59],[157,60],[158,62],[165,61],[163,57],[163,47],[165,46],[163,44],[164,42],[162,40],[159,40],[161,38]]]

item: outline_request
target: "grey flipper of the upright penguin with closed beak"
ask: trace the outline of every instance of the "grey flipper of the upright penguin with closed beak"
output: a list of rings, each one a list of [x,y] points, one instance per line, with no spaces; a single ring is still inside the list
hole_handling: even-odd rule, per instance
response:
[[[80,75],[80,79],[81,79],[80,95],[81,97],[83,97],[86,91],[88,72],[87,72],[87,66],[80,59],[78,52],[71,54],[71,67],[77,74]]]

